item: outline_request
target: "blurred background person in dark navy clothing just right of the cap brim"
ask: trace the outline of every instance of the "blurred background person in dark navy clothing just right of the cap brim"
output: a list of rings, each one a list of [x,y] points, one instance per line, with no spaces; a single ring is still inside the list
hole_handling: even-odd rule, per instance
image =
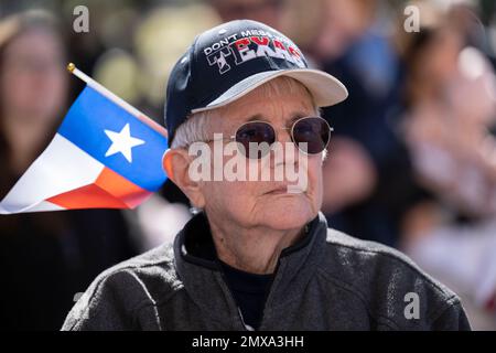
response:
[[[370,0],[320,0],[308,11],[304,1],[289,3],[283,23],[304,34],[300,39],[314,65],[349,90],[346,103],[323,111],[334,127],[324,167],[327,221],[357,237],[397,246],[396,200],[385,188],[391,186],[391,170],[403,154],[388,121],[401,79],[390,9]]]

